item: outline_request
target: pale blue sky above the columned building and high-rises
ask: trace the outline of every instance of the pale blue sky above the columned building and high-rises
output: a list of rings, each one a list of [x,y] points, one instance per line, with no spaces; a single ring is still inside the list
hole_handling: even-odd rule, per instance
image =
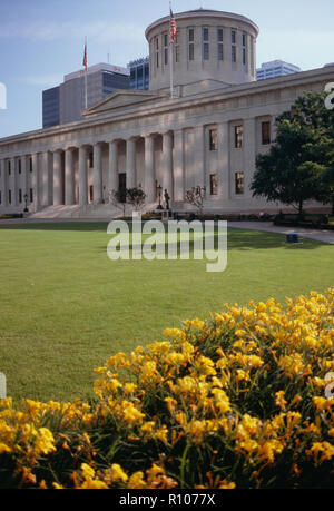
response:
[[[257,67],[281,59],[310,70],[334,61],[333,0],[173,0],[176,14],[200,7],[259,27]],[[145,29],[168,14],[169,0],[0,0],[0,138],[42,127],[42,91],[82,69],[85,37],[88,66],[109,55],[126,67],[148,55]]]

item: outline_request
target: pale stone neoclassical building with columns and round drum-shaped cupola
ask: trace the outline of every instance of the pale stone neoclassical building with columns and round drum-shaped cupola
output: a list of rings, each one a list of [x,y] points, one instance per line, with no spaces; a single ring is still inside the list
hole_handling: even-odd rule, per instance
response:
[[[255,159],[275,140],[275,118],[305,91],[334,82],[334,66],[256,81],[257,26],[199,9],[146,30],[150,90],[119,90],[84,120],[0,139],[0,213],[106,217],[110,190],[141,187],[149,209],[158,187],[171,207],[187,189],[206,189],[205,209],[278,209],[252,197]],[[170,91],[173,66],[173,95]]]

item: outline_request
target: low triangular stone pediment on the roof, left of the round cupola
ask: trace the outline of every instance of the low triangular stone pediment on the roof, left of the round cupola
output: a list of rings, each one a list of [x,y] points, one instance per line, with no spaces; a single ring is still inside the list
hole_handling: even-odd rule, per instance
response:
[[[137,107],[144,104],[150,104],[161,100],[166,95],[158,92],[149,92],[143,90],[116,90],[106,98],[91,105],[82,111],[84,117],[92,117],[106,114],[111,110],[122,109],[128,107]]]

